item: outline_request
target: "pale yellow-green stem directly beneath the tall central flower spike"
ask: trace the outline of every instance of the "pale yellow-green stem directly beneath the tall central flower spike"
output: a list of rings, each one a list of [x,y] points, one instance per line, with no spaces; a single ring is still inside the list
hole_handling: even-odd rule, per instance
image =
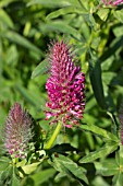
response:
[[[56,130],[53,131],[53,135],[51,136],[50,140],[47,142],[46,148],[45,149],[50,149],[53,144],[53,142],[56,141],[57,136],[59,135],[60,130],[61,130],[61,123],[59,121]]]

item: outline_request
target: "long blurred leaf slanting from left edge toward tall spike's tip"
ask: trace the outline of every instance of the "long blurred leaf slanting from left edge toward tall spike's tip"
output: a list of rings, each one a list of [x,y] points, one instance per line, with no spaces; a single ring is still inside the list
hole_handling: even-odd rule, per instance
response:
[[[15,33],[15,32],[8,31],[5,33],[1,33],[0,36],[5,37],[9,40],[11,40],[15,44],[19,44],[27,49],[34,50],[35,53],[41,54],[41,50],[38,47],[36,47],[34,44],[32,44],[25,37],[23,37],[22,35]]]

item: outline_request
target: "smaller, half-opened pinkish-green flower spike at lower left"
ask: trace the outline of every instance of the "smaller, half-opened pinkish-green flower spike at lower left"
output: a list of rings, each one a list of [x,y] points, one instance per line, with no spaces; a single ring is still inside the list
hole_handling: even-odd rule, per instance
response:
[[[30,115],[19,103],[11,107],[5,121],[4,143],[13,158],[26,158],[28,142],[33,137],[32,123]]]

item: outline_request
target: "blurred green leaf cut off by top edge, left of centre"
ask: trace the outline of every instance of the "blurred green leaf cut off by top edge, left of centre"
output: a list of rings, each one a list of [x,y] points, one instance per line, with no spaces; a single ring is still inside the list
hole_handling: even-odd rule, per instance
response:
[[[64,1],[64,0],[61,0],[61,1],[59,0],[56,0],[56,1],[32,0],[30,2],[27,3],[27,5],[33,5],[33,4],[41,4],[41,5],[49,7],[49,8],[71,5],[69,1]]]

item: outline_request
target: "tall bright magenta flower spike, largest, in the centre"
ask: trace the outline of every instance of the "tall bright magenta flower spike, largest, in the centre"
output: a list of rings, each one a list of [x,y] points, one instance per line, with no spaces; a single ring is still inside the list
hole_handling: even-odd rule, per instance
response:
[[[61,121],[71,128],[83,118],[85,108],[85,74],[75,66],[71,47],[63,40],[50,47],[50,78],[46,83],[48,102],[46,119],[51,123]]]

